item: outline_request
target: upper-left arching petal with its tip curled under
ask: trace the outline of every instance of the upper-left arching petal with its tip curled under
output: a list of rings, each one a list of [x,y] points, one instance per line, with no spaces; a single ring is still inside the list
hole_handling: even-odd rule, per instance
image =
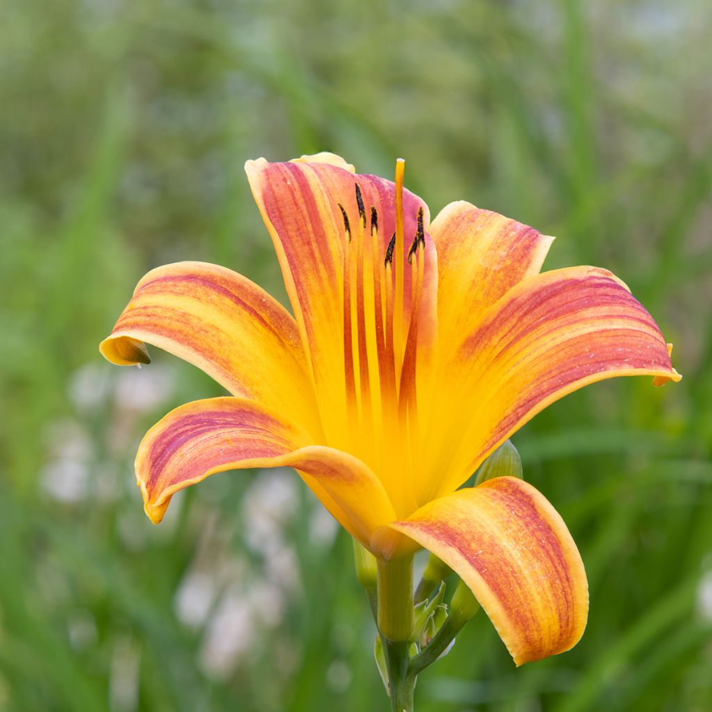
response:
[[[196,365],[232,394],[320,431],[296,324],[245,277],[204,262],[150,271],[100,350],[120,365],[147,363],[143,342]]]

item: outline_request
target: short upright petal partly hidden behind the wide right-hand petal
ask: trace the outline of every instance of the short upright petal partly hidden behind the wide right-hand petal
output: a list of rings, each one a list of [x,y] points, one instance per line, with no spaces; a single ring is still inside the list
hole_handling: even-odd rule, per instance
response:
[[[537,274],[553,237],[465,201],[446,205],[430,226],[438,252],[442,344],[525,277]]]

